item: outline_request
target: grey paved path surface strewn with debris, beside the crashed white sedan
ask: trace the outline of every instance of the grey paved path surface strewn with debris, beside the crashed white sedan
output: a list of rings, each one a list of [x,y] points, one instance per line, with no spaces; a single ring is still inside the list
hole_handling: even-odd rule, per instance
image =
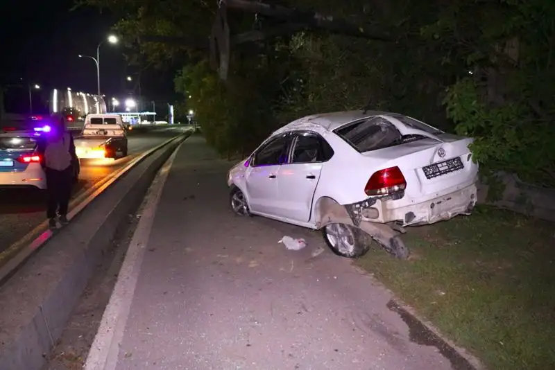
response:
[[[146,244],[127,252],[138,277],[119,274],[108,310],[122,321],[92,349],[117,355],[98,369],[456,369],[411,341],[382,285],[328,249],[313,256],[319,233],[233,215],[228,168],[200,136],[180,148],[155,213],[143,210]],[[285,249],[285,235],[308,247]]]

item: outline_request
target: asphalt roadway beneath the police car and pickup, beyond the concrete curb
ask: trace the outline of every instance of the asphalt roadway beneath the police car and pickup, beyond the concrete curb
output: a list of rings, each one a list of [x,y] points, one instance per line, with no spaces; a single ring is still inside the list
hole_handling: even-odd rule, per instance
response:
[[[132,133],[128,136],[128,156],[122,159],[81,161],[81,173],[74,188],[74,197],[91,188],[114,170],[148,149],[171,139],[182,132],[182,128],[162,128],[150,132]],[[46,218],[44,191],[0,189],[0,253],[8,249]]]

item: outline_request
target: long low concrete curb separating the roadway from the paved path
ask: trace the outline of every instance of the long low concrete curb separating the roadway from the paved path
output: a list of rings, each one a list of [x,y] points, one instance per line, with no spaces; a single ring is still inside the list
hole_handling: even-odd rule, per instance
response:
[[[0,288],[0,370],[44,365],[118,225],[141,204],[157,170],[181,141],[118,179]]]

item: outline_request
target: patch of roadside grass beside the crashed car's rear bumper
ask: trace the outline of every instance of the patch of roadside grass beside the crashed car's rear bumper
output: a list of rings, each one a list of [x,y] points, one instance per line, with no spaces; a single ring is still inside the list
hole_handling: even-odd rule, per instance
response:
[[[554,224],[480,206],[357,264],[490,370],[555,369]]]

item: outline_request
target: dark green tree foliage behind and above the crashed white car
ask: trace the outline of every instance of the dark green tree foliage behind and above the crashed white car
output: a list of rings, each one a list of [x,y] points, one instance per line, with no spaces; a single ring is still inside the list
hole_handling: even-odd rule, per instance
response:
[[[116,30],[137,51],[130,62],[187,64],[176,90],[222,154],[244,154],[300,116],[370,103],[474,137],[486,173],[555,185],[555,1],[280,1],[386,31],[393,42],[313,30],[232,46],[225,84],[191,45],[137,42],[141,35],[206,39],[216,2],[83,1],[121,16]],[[232,34],[275,25],[237,10],[228,17]]]

